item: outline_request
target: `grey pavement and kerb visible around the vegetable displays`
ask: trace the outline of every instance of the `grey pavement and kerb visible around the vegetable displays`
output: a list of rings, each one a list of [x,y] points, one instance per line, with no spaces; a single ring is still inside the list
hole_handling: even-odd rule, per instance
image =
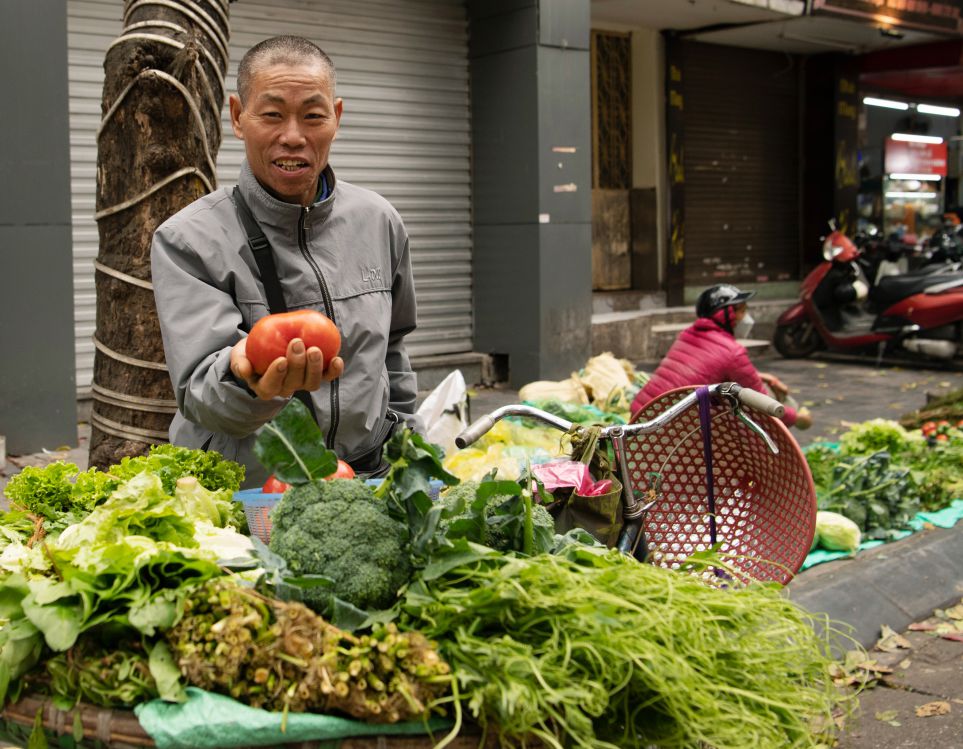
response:
[[[802,445],[834,440],[848,425],[867,419],[898,418],[923,406],[927,394],[963,388],[963,373],[943,370],[877,369],[869,363],[790,361],[775,356],[760,357],[756,364],[782,379],[799,403],[812,411],[812,429],[793,431]],[[639,368],[651,370],[651,366]],[[518,392],[511,388],[476,386],[471,393],[471,417],[517,402]],[[82,424],[77,446],[9,457],[0,468],[0,488],[25,465],[63,459],[85,468],[88,434],[89,427]],[[887,676],[883,686],[861,696],[862,717],[847,729],[841,749],[963,749],[963,643],[928,631],[907,631],[911,623],[963,598],[963,524],[949,530],[924,530],[852,559],[818,565],[798,575],[787,590],[810,611],[851,626],[851,636],[863,646],[872,646],[884,625],[903,632],[911,645],[898,651],[901,657],[893,665],[895,673]],[[916,708],[931,701],[945,702],[949,712],[917,717]]]

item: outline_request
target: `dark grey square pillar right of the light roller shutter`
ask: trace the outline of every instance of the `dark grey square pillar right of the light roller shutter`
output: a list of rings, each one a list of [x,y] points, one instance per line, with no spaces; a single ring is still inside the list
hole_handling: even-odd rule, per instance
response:
[[[475,349],[514,386],[590,355],[588,0],[477,0],[471,24]]]

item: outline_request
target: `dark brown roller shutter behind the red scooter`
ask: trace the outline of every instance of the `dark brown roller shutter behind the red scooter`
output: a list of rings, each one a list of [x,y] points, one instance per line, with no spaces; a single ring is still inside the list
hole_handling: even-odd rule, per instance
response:
[[[684,44],[686,284],[799,273],[799,66]]]

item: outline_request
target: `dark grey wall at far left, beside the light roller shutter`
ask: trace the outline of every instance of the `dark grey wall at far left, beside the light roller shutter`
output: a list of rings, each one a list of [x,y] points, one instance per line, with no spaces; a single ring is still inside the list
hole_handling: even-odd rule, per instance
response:
[[[0,3],[0,434],[74,445],[66,0]]]

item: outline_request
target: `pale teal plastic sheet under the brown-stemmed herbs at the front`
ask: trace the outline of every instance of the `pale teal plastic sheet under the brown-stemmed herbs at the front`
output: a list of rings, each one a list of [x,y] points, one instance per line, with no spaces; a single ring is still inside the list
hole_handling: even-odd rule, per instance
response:
[[[446,731],[451,722],[432,718],[427,723],[363,723],[335,715],[288,713],[283,716],[230,697],[187,688],[182,704],[151,700],[134,714],[158,749],[214,749],[215,747],[280,746],[300,741],[333,741],[351,736],[401,736]],[[441,738],[437,735],[437,738]],[[336,745],[336,744],[334,744]]]

